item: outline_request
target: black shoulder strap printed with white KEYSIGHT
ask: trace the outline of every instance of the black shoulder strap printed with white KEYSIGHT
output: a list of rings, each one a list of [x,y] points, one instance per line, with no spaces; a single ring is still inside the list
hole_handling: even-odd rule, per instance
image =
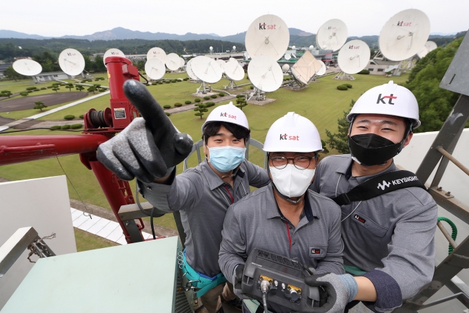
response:
[[[342,193],[332,198],[332,200],[337,205],[348,205],[352,201],[368,200],[381,196],[384,193],[408,187],[419,187],[427,190],[427,187],[415,176],[415,173],[410,171],[392,171],[371,178],[348,191],[348,193]]]

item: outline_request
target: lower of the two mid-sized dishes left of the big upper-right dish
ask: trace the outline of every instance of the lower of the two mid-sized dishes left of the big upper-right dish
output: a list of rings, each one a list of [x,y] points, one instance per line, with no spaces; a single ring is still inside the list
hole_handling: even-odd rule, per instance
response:
[[[343,73],[356,74],[363,70],[370,61],[370,47],[365,41],[351,40],[348,41],[339,50],[337,55],[337,63]]]

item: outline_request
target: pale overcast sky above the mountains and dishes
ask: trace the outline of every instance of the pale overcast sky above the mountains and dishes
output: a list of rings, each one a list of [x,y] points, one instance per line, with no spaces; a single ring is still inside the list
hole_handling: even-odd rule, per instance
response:
[[[0,29],[48,37],[91,35],[115,27],[227,36],[244,32],[261,15],[273,14],[289,28],[312,33],[329,19],[341,19],[349,36],[364,36],[379,35],[392,15],[408,8],[428,15],[430,33],[469,28],[468,0],[23,0],[3,1]]]

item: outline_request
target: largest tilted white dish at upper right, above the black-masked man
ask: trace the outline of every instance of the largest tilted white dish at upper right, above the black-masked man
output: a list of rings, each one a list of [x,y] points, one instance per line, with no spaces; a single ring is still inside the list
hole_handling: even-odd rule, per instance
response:
[[[413,57],[425,46],[430,20],[421,10],[403,10],[391,17],[379,33],[379,50],[391,61]]]

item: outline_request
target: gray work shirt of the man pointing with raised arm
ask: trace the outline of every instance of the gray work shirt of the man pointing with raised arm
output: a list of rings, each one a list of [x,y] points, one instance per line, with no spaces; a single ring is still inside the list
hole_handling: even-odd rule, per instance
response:
[[[161,211],[181,211],[186,233],[186,260],[201,274],[219,274],[218,253],[226,209],[246,196],[249,186],[263,187],[269,182],[267,171],[243,161],[230,184],[223,182],[204,160],[174,178],[172,184],[140,182],[144,198]]]

